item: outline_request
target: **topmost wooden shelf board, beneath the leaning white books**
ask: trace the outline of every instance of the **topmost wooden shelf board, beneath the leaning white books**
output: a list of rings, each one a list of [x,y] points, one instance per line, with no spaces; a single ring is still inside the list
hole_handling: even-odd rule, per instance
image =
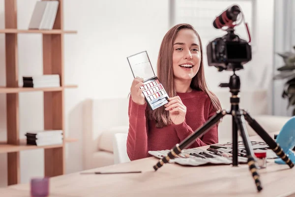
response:
[[[44,34],[61,34],[61,33],[77,33],[77,31],[65,30],[18,30],[18,29],[2,29],[0,33],[44,33]]]

